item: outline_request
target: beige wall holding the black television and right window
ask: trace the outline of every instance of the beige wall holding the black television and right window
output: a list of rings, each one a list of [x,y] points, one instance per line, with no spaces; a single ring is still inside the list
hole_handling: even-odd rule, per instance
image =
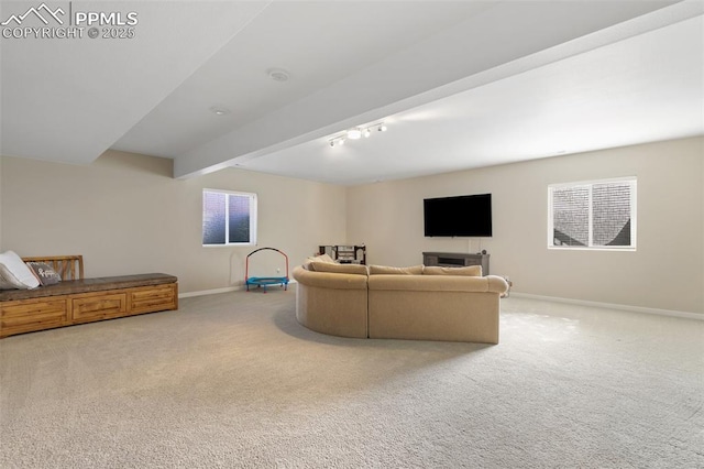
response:
[[[394,265],[486,249],[491,272],[516,292],[704,313],[703,159],[695,138],[353,187],[348,241],[365,242],[370,263]],[[631,175],[636,252],[548,250],[549,184]],[[493,238],[424,237],[424,198],[482,193],[493,194]]]

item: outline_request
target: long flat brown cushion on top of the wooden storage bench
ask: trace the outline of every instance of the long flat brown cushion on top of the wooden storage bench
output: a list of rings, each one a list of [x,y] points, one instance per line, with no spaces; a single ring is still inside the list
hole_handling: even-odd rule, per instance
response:
[[[106,290],[134,288],[138,286],[162,285],[177,282],[174,275],[147,273],[138,275],[105,276],[59,282],[55,285],[40,286],[34,290],[0,291],[0,302],[42,298],[45,296],[72,295],[77,293],[101,292]]]

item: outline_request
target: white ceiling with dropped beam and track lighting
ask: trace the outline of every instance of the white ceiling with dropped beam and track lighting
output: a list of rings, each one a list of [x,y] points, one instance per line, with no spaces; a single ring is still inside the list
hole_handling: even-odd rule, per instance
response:
[[[0,21],[40,3],[2,1]],[[4,155],[111,148],[173,157],[177,177],[351,185],[704,134],[701,0],[67,7],[135,11],[135,37],[0,39]]]

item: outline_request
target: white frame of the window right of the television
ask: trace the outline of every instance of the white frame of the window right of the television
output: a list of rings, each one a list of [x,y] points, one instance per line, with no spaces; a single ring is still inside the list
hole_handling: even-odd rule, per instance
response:
[[[592,189],[598,184],[608,183],[629,183],[630,185],[630,246],[594,246],[593,244],[593,212],[592,212]],[[554,220],[553,220],[553,192],[554,189],[563,189],[570,187],[588,187],[588,246],[566,246],[554,244]],[[556,250],[587,250],[587,251],[636,251],[637,246],[637,187],[638,181],[636,176],[617,177],[609,179],[583,181],[576,183],[551,184],[548,186],[548,249]]]

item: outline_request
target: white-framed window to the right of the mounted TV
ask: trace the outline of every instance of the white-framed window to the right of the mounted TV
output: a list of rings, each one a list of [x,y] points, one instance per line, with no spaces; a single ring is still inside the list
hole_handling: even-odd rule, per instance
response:
[[[548,248],[636,249],[636,178],[548,187]]]

